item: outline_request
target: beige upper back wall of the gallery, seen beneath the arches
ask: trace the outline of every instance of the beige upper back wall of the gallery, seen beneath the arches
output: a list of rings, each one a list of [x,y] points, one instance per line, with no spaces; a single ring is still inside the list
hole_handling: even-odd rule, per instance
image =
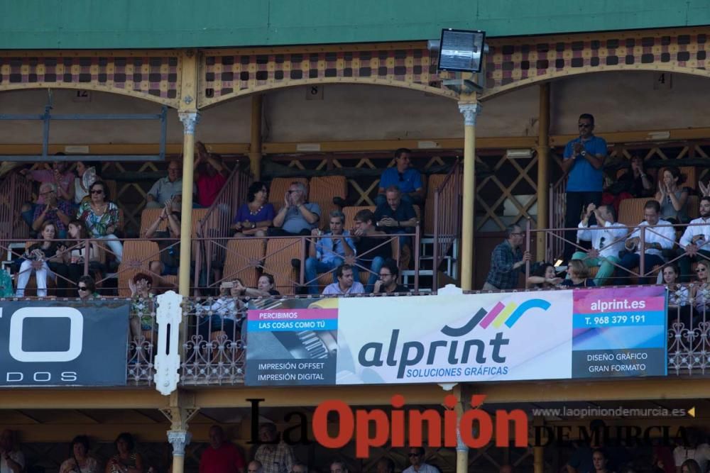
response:
[[[553,134],[577,133],[577,116],[596,116],[596,132],[710,127],[710,82],[672,75],[672,88],[654,89],[651,72],[606,72],[552,83]],[[75,102],[75,91],[55,90],[54,113],[158,113],[160,106],[114,94],[92,93]],[[537,86],[484,102],[479,136],[537,134]],[[265,140],[301,142],[461,138],[463,118],[455,101],[397,87],[326,84],[322,100],[307,100],[307,87],[277,89],[264,99]],[[46,91],[0,93],[2,113],[42,113]],[[207,143],[249,142],[249,97],[202,112],[197,137]],[[41,142],[40,122],[4,122],[0,144]],[[53,122],[52,143],[157,143],[157,122]],[[175,111],[168,142],[182,141]]]

